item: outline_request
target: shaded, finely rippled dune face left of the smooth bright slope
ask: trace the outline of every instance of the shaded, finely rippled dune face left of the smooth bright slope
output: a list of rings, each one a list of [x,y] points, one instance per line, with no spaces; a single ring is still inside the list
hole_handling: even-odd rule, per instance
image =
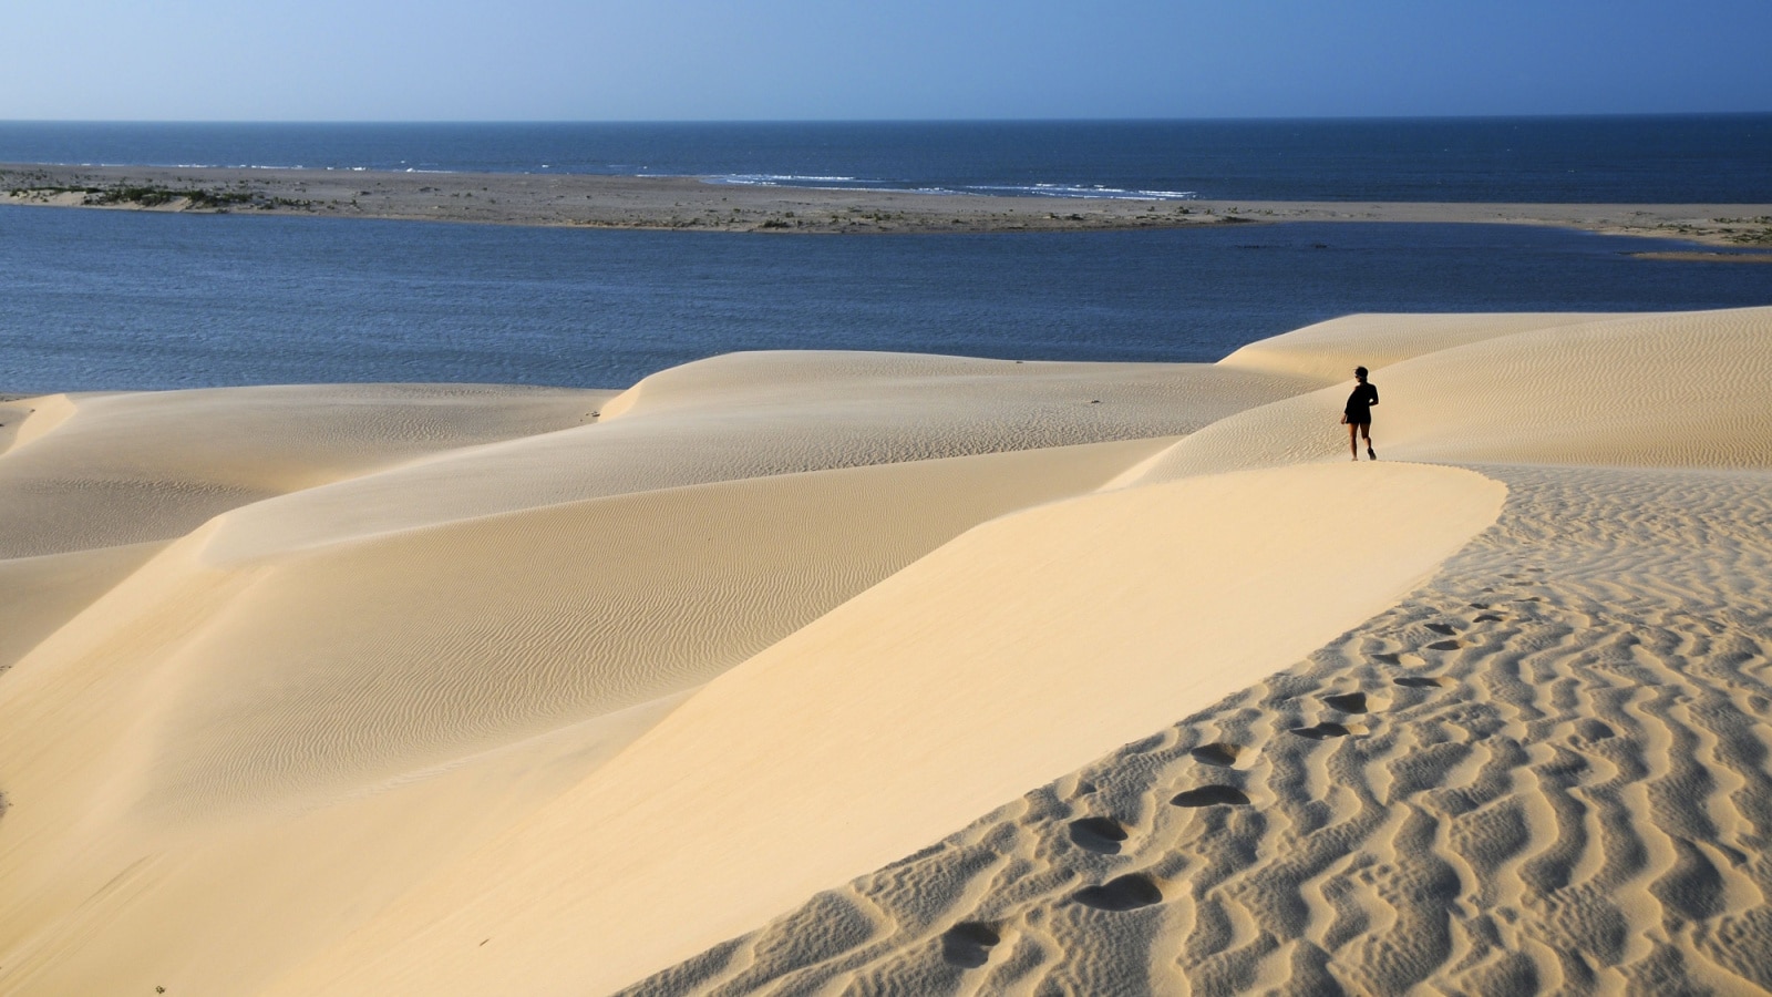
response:
[[[230,561],[252,591],[181,649],[190,687],[165,722],[204,734],[168,745],[156,797],[347,788],[684,692],[966,527],[1154,449],[714,483]]]

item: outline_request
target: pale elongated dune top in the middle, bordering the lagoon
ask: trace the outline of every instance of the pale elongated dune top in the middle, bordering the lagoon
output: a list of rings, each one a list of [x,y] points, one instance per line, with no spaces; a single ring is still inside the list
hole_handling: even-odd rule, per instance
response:
[[[1168,436],[1310,387],[1212,364],[737,353],[640,381],[595,426],[262,502],[234,532],[292,548],[714,481]]]

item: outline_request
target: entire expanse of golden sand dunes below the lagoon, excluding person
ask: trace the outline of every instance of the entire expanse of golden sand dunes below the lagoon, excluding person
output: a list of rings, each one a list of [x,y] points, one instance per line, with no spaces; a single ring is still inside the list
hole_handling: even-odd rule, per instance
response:
[[[1768,385],[1744,309],[4,403],[0,992],[1772,986]]]

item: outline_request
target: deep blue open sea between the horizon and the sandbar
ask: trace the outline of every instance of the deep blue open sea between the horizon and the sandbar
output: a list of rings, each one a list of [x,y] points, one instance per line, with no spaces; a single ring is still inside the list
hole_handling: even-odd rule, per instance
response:
[[[0,122],[0,163],[705,176],[1244,200],[1772,200],[1772,115],[702,124]]]

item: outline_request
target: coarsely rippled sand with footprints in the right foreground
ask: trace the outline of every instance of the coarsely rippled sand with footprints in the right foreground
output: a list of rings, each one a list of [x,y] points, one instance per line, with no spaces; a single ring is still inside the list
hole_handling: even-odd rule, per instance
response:
[[[1481,472],[1389,612],[624,993],[1772,988],[1772,474]]]

